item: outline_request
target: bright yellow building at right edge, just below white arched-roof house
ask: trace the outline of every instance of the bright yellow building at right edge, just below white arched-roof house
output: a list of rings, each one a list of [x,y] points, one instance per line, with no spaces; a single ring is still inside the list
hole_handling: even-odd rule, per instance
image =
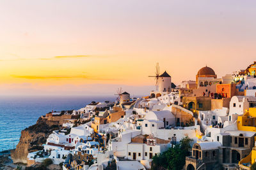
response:
[[[256,132],[256,108],[249,108],[243,116],[237,117],[237,129]]]

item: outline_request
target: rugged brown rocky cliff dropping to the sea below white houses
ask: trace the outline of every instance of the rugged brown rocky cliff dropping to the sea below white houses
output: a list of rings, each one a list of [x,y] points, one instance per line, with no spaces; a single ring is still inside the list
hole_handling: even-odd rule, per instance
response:
[[[13,163],[27,164],[28,153],[42,150],[41,145],[46,142],[49,134],[58,129],[59,121],[38,118],[35,125],[21,131],[19,144],[11,152]]]

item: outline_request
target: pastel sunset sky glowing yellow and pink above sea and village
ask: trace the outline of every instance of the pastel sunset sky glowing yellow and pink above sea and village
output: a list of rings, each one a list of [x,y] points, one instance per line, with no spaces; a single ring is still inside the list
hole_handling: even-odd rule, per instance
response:
[[[133,96],[256,60],[256,1],[0,2],[0,95]]]

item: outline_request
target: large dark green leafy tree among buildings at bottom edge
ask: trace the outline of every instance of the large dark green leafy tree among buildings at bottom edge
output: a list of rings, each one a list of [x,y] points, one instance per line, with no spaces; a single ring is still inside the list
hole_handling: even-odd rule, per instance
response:
[[[151,169],[182,169],[186,163],[186,156],[189,155],[191,141],[188,137],[182,138],[173,148],[154,156]]]

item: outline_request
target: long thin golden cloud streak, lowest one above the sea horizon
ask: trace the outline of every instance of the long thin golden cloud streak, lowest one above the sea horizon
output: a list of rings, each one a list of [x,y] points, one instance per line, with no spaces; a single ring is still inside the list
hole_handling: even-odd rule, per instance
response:
[[[55,80],[61,80],[61,79],[83,79],[83,80],[115,80],[115,79],[110,79],[110,78],[93,78],[93,77],[88,77],[84,75],[76,75],[76,76],[34,76],[34,75],[15,75],[12,74],[10,75],[13,78],[24,78],[24,79],[30,79],[30,80],[47,80],[47,79],[55,79]]]

